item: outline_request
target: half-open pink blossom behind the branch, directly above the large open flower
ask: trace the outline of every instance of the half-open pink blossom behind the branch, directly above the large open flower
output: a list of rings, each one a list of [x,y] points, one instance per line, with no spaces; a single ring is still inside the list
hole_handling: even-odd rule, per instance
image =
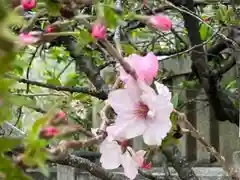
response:
[[[152,52],[146,56],[139,56],[132,54],[125,58],[125,60],[135,69],[138,79],[145,81],[147,84],[152,84],[153,79],[158,72],[158,59]],[[120,67],[120,79],[127,83],[131,79],[131,75],[127,74],[122,67]]]

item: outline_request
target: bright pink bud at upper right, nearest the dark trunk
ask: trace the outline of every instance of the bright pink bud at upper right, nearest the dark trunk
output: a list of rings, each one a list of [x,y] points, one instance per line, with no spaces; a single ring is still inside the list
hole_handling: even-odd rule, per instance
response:
[[[149,23],[152,24],[154,28],[162,31],[169,31],[172,28],[172,21],[166,16],[151,16]]]

